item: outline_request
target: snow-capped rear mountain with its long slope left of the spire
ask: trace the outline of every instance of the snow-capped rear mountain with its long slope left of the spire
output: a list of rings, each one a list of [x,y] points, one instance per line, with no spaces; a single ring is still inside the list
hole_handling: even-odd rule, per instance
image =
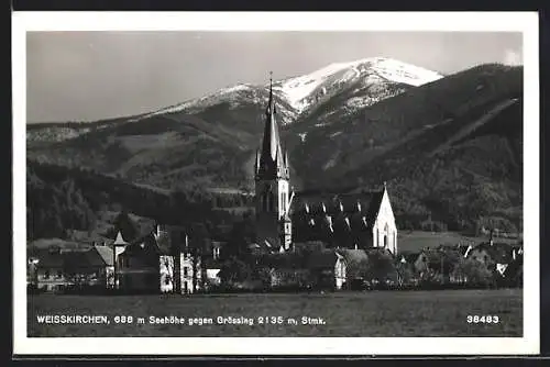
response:
[[[348,103],[341,113],[351,113],[438,78],[437,73],[386,58],[332,64],[274,82],[278,121],[299,123],[317,107],[339,99]],[[28,154],[38,162],[88,167],[163,188],[190,180],[215,188],[246,187],[267,97],[268,86],[241,84],[127,119],[35,124],[28,130]]]

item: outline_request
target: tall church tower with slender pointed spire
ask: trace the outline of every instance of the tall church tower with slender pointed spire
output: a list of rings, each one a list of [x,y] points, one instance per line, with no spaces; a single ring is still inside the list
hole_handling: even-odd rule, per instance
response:
[[[265,109],[262,147],[256,151],[254,164],[256,241],[279,251],[290,249],[292,223],[288,215],[290,175],[288,155],[280,147],[277,110],[273,100],[273,80],[270,78],[270,100]]]

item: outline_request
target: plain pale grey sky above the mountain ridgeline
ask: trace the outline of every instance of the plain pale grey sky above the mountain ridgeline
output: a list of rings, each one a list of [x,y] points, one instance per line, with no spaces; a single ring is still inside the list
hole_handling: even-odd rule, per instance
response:
[[[442,74],[520,65],[508,32],[28,32],[29,123],[151,112],[239,82],[391,57]]]

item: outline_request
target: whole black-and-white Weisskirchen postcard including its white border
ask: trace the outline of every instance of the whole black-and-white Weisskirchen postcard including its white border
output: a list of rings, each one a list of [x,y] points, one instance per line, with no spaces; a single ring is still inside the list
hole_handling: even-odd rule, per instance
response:
[[[539,353],[537,13],[12,37],[15,354]]]

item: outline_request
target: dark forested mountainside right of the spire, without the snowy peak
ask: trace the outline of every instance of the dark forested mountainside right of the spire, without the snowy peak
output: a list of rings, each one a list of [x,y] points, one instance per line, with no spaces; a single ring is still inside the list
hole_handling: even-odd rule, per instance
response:
[[[416,226],[428,214],[455,230],[521,226],[520,67],[458,73],[309,130],[305,141],[299,127],[287,141],[305,187],[387,181],[397,215]]]

